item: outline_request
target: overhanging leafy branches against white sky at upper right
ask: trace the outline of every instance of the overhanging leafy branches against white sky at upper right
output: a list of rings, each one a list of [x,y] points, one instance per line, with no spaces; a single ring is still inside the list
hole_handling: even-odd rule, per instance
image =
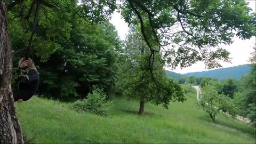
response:
[[[149,30],[145,33],[151,35],[145,39],[153,37],[154,41],[148,41],[147,45],[154,45],[159,39],[159,45],[169,46],[162,48],[172,68],[188,67],[197,61],[204,61],[207,68],[220,67],[219,60],[229,62],[230,58],[229,52],[219,45],[231,44],[235,35],[251,38],[256,30],[256,15],[245,1],[129,0],[122,1],[121,13],[130,25]],[[148,22],[151,29],[146,25]]]

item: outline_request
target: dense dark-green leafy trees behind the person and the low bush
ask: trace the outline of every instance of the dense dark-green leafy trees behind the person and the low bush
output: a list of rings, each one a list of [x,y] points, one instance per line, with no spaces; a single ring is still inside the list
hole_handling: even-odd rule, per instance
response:
[[[93,3],[90,10],[85,6],[89,2],[82,2],[83,5],[78,6],[77,1],[69,0],[51,1],[52,4],[58,3],[60,10],[41,8],[32,43],[34,61],[40,67],[41,74],[39,93],[72,99],[85,96],[95,84],[108,94],[114,93],[121,41],[115,27],[107,21],[103,22],[115,9],[115,3],[111,2]],[[34,20],[15,16],[28,14],[26,6],[31,4],[32,1],[26,1],[9,11],[14,67],[18,66],[21,57],[27,55],[29,31],[32,29],[29,24]],[[105,10],[101,7],[107,5],[111,5],[111,8]],[[92,13],[93,7],[97,7],[97,10]],[[80,16],[86,19],[79,18],[73,9],[83,11]],[[86,12],[94,15],[86,16]],[[95,22],[93,25],[92,21]]]

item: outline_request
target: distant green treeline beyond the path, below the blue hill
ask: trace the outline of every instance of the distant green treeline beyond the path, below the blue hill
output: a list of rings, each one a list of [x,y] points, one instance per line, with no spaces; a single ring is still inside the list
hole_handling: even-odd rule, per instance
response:
[[[200,85],[201,88],[211,85],[218,94],[226,95],[232,99],[235,104],[236,113],[250,118],[251,122],[256,124],[256,65],[255,65],[255,47],[250,62],[250,71],[242,76],[240,80],[227,78],[218,81],[217,78],[211,77],[180,77],[175,79],[176,83]]]

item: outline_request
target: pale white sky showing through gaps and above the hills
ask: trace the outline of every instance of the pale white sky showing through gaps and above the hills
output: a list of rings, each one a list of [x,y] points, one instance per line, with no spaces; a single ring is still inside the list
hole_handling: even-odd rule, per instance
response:
[[[256,0],[246,1],[249,2],[249,6],[252,8],[253,12],[256,13]],[[111,15],[111,23],[116,27],[118,31],[119,37],[124,40],[125,35],[128,34],[128,25],[125,23],[124,19],[122,19],[121,14],[114,12]],[[242,40],[237,37],[233,38],[234,43],[230,45],[220,45],[223,49],[226,49],[230,52],[229,56],[231,58],[231,63],[221,62],[222,68],[233,67],[238,65],[244,65],[249,63],[250,53],[253,52],[252,46],[255,45],[255,37],[251,39]],[[165,67],[167,70],[171,70],[170,68]],[[205,69],[204,62],[197,62],[194,65],[187,68],[179,68],[173,69],[175,73],[186,74],[196,71],[205,71],[209,69]]]

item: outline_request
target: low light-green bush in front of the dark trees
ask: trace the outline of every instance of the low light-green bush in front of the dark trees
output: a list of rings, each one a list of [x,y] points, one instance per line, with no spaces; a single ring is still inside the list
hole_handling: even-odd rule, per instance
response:
[[[107,116],[107,111],[113,106],[113,101],[107,100],[107,95],[103,93],[103,89],[95,86],[92,93],[87,95],[87,99],[77,100],[71,105],[78,113],[86,111],[100,116]]]

